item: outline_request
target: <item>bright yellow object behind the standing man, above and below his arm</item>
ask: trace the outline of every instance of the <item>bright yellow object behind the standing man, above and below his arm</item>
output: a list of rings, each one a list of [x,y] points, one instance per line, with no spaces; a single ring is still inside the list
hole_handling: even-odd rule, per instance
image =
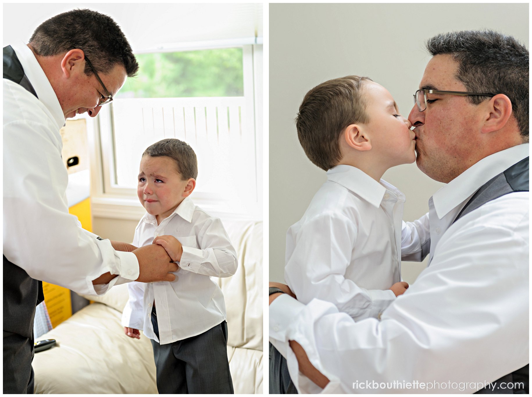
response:
[[[81,226],[88,230],[93,230],[93,219],[90,213],[90,198],[86,198],[78,204],[72,205],[69,208],[72,215],[78,217]],[[48,315],[52,322],[52,327],[56,327],[64,320],[72,316],[72,302],[70,299],[70,290],[68,288],[60,287],[59,285],[49,284],[43,282],[44,300],[46,301],[46,308]]]

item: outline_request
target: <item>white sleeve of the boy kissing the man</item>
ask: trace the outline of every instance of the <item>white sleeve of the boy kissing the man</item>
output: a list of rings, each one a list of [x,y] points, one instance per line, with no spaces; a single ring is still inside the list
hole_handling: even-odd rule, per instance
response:
[[[294,238],[291,233],[289,229],[287,245]],[[378,317],[395,300],[391,290],[366,290],[345,278],[357,233],[352,220],[335,213],[321,213],[297,231],[294,251],[286,261],[285,281],[298,301],[331,302],[360,320]]]

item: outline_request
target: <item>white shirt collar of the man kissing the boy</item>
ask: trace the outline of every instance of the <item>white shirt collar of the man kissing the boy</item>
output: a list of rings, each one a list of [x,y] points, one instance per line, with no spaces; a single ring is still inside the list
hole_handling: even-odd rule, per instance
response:
[[[528,143],[493,153],[454,178],[433,195],[434,209],[439,219],[473,195],[496,175],[528,156]]]

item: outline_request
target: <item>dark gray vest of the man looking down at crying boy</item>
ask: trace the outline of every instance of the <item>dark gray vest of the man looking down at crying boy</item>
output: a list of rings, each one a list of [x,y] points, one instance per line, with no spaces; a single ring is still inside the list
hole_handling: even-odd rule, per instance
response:
[[[4,79],[37,96],[11,46],[4,47]],[[4,255],[4,331],[33,338],[35,307],[44,301],[43,283],[7,260]]]

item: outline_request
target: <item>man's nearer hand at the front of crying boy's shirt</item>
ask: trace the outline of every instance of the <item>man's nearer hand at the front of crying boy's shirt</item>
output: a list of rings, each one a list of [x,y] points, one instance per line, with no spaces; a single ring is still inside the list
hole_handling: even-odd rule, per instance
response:
[[[179,266],[177,263],[173,263],[162,246],[157,244],[145,245],[132,252],[138,259],[139,268],[139,276],[135,281],[152,283],[176,279],[176,276],[169,272],[178,271]]]

